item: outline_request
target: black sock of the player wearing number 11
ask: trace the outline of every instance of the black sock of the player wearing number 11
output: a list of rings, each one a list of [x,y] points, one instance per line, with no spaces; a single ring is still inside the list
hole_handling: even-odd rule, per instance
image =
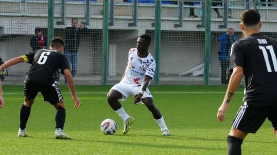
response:
[[[228,155],[242,155],[242,141],[242,139],[228,136]]]

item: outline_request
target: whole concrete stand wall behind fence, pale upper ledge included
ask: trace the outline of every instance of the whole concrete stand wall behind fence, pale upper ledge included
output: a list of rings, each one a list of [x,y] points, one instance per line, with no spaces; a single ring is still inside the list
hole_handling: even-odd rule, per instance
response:
[[[56,1],[57,2],[57,1]],[[21,12],[24,10],[21,6]],[[55,36],[65,38],[64,28],[72,17],[78,17],[79,22],[85,22],[85,3],[67,2],[66,24],[54,25]],[[178,6],[162,5],[162,34],[161,34],[161,73],[162,75],[177,76],[180,73],[204,62],[205,29],[197,28],[201,24],[200,5],[195,5],[195,13],[199,18],[188,18],[189,7],[184,8],[184,27],[174,28],[178,24]],[[219,9],[222,12],[222,9]],[[239,15],[244,10],[243,3],[236,3],[233,9],[229,10],[232,16],[228,20],[228,27],[233,27],[236,34],[241,37],[239,28]],[[261,31],[276,34],[277,10],[261,10],[263,28]],[[0,2],[0,57],[6,61],[12,57],[23,55],[31,51],[29,45],[30,38],[34,35],[35,27],[40,27],[47,34],[47,3],[28,2],[27,13],[21,14],[18,2]],[[55,22],[60,21],[60,4],[55,6]],[[87,27],[91,29],[89,34],[82,36],[77,76],[101,75],[102,61],[102,15],[103,6],[101,3],[91,4],[91,21]],[[268,16],[267,16],[268,15]],[[267,18],[266,18],[267,16]],[[222,18],[217,18],[212,11],[212,40],[211,40],[211,75],[219,76],[220,67],[217,51],[219,43],[217,38],[225,32],[219,29],[223,24]],[[152,23],[155,22],[155,5],[139,4],[138,6],[138,26],[129,27],[132,21],[132,6],[130,3],[116,1],[115,22],[110,26],[109,43],[116,45],[116,74],[121,75],[126,67],[128,50],[136,47],[137,37],[142,33],[149,33],[152,38],[150,51],[155,56],[154,51],[154,29]],[[25,74],[30,65],[20,64],[9,69],[9,73]]]

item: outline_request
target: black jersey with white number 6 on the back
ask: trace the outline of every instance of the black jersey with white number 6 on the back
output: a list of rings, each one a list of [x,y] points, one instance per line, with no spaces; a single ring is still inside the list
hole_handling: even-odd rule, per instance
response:
[[[64,74],[65,69],[70,69],[66,57],[56,50],[39,49],[22,57],[32,64],[26,80],[52,82],[56,70],[61,69],[61,73]]]

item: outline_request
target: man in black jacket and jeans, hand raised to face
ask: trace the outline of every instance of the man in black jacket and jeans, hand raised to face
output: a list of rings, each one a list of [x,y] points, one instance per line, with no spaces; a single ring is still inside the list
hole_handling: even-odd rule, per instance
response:
[[[75,77],[78,68],[78,49],[80,36],[87,31],[83,24],[78,23],[77,18],[72,18],[71,23],[66,27],[66,45],[64,54],[72,65],[72,76]]]

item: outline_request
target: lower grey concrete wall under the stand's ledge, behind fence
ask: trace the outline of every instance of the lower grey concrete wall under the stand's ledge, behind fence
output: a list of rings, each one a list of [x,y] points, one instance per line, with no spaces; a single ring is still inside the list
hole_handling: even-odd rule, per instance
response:
[[[148,31],[152,38],[154,32]],[[109,43],[115,44],[116,74],[121,75],[126,67],[128,50],[136,47],[137,38],[128,38],[129,31],[110,31]],[[32,50],[30,39],[33,35],[13,35],[0,42],[0,57],[7,61],[16,56],[23,55]],[[56,34],[65,38],[64,33]],[[161,73],[163,75],[179,75],[180,73],[204,62],[205,33],[193,31],[162,31],[161,38]],[[128,38],[128,39],[126,39]],[[150,52],[155,56],[154,42],[150,46]],[[217,36],[212,40],[211,74],[219,76],[219,63],[217,61]],[[101,75],[102,60],[102,33],[94,31],[90,35],[81,37],[78,54],[78,76]],[[29,64],[19,64],[9,69],[10,74],[25,74]]]

